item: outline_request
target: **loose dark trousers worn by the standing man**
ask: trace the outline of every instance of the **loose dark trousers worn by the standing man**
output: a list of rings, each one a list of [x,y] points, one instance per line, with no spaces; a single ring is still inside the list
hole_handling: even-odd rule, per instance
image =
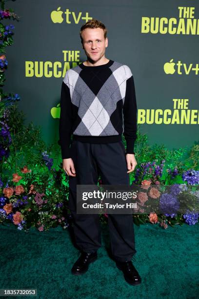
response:
[[[103,185],[129,185],[125,147],[122,141],[89,144],[73,140],[72,160],[76,176],[69,176],[69,209],[74,219],[74,234],[83,252],[97,251],[101,246],[99,214],[77,214],[78,185],[97,185],[99,174]],[[135,250],[132,214],[108,214],[112,255],[116,260],[131,260]]]

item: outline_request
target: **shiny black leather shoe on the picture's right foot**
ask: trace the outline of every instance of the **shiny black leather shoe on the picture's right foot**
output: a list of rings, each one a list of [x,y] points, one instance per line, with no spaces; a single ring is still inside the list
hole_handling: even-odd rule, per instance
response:
[[[124,274],[124,279],[131,285],[138,285],[141,283],[141,278],[138,271],[134,267],[132,261],[120,262],[116,261],[116,266]]]

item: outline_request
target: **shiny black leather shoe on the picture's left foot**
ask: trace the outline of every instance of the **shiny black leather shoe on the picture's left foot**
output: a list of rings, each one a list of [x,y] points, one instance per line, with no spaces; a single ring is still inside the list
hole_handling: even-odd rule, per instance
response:
[[[97,252],[94,253],[86,253],[82,252],[78,260],[73,265],[71,269],[72,274],[81,275],[88,270],[88,266],[90,263],[94,262],[98,258]]]

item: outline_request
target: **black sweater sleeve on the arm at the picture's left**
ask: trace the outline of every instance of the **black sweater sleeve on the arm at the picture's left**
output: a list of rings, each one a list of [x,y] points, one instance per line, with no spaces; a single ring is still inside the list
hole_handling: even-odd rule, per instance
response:
[[[60,125],[59,134],[60,140],[58,144],[61,147],[62,159],[71,158],[70,144],[71,144],[71,129],[72,129],[72,104],[70,89],[68,85],[62,82],[61,96],[60,96]]]

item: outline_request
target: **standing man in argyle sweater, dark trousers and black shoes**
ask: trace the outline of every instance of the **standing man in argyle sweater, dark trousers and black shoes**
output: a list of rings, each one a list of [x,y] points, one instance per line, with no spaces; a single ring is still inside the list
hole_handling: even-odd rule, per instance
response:
[[[99,214],[77,214],[77,184],[97,185],[100,174],[104,185],[129,185],[129,173],[137,165],[134,79],[127,65],[105,57],[106,35],[106,27],[96,19],[81,26],[87,61],[69,69],[61,86],[59,144],[63,170],[69,176],[69,209],[75,239],[81,251],[71,270],[74,275],[88,270],[101,246]],[[116,266],[129,284],[141,283],[131,261],[137,252],[132,214],[108,214],[108,226]]]

